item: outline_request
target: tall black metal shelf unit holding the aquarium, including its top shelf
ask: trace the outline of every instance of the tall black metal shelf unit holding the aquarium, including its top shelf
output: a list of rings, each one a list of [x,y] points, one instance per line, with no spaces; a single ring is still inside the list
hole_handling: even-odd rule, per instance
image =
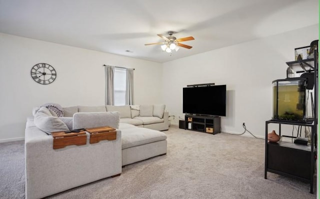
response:
[[[290,120],[267,120],[265,121],[265,162],[264,162],[264,178],[267,179],[267,172],[292,177],[306,183],[310,183],[310,193],[313,193],[313,178],[315,173],[316,146],[317,146],[317,116],[318,116],[318,52],[313,52],[314,58],[288,61],[286,64],[296,73],[314,72],[314,102],[313,102],[313,118],[307,118],[306,121],[290,121]],[[292,142],[282,141],[283,137],[292,137],[282,135],[278,142],[268,142],[268,124],[277,123],[278,133],[281,136],[281,125],[299,125],[311,128],[311,140],[308,145],[300,145]]]

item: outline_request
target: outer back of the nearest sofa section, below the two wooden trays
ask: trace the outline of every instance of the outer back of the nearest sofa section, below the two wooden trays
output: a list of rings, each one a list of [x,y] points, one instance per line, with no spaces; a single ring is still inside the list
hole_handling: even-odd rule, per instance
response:
[[[25,128],[26,198],[42,198],[121,173],[121,131],[117,129],[115,140],[89,144],[88,133],[86,138],[85,145],[53,149],[52,136],[36,127],[33,118],[28,117]]]

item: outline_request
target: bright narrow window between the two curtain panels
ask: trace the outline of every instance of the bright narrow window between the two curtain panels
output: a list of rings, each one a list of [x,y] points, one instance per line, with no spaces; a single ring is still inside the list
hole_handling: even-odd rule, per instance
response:
[[[126,69],[114,67],[114,105],[125,105]]]

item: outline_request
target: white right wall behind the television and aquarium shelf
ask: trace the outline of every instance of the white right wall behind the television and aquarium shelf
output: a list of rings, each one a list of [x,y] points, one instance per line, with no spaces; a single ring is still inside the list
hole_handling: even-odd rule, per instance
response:
[[[214,82],[227,89],[222,131],[242,133],[245,122],[250,132],[264,137],[265,120],[272,114],[272,80],[286,77],[285,62],[294,60],[294,48],[315,39],[318,24],[164,63],[163,97],[175,115],[171,123],[177,124],[178,116],[184,118],[182,87]]]

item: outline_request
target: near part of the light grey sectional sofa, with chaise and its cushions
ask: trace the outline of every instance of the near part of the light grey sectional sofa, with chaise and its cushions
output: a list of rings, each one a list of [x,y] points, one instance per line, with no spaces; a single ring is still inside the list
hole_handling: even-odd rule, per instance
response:
[[[121,173],[121,166],[166,154],[167,141],[164,132],[144,128],[146,126],[143,123],[138,126],[144,127],[138,127],[120,122],[125,117],[120,118],[119,111],[91,112],[93,106],[64,108],[63,116],[69,116],[70,110],[72,108],[75,110],[74,107],[82,112],[74,112],[72,117],[57,117],[51,110],[41,107],[34,111],[34,116],[27,118],[25,127],[26,198],[42,198],[95,180],[118,175]],[[95,106],[95,108],[98,110],[101,107]],[[68,145],[53,149],[53,138],[48,132],[58,131],[61,128],[62,130],[70,129],[70,125],[73,129],[114,127],[116,139],[90,144],[89,133],[86,132],[85,145]],[[59,126],[59,129],[54,129],[54,126]]]

